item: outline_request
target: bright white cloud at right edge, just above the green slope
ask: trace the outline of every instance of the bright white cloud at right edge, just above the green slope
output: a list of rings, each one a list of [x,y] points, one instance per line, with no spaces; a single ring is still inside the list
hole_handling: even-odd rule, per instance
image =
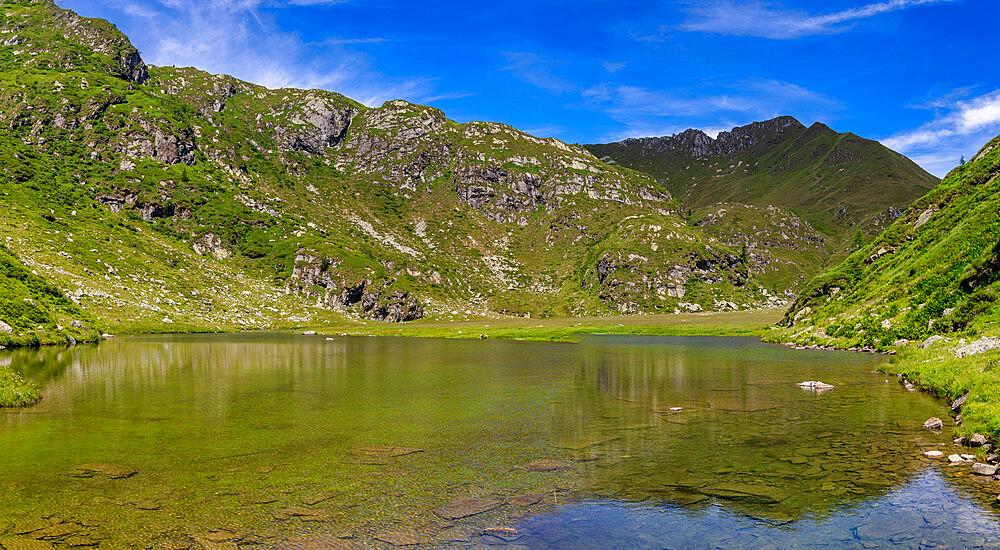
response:
[[[1000,89],[961,98],[952,92],[944,98],[931,102],[937,107],[933,120],[882,140],[886,147],[909,155],[937,176],[948,173],[962,156],[971,157],[1000,133]]]

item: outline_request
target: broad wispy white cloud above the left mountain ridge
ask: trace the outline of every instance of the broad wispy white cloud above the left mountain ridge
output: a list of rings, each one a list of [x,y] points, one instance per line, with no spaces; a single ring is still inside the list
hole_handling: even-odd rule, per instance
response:
[[[275,10],[333,6],[346,0],[113,0],[123,20],[137,18],[131,39],[153,65],[192,66],[229,74],[268,88],[325,89],[366,105],[390,99],[421,101],[435,92],[434,78],[391,78],[352,45],[383,38],[334,39],[306,44],[282,30]],[[69,7],[76,1],[68,0]],[[86,15],[86,2],[78,11]],[[148,19],[156,18],[155,24]],[[127,25],[123,28],[128,29]]]

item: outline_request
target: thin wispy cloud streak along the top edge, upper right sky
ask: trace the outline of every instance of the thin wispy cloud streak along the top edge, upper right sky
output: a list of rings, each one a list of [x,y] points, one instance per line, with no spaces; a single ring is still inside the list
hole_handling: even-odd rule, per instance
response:
[[[837,34],[849,30],[853,22],[883,13],[957,1],[959,0],[886,0],[817,15],[774,7],[766,2],[718,0],[688,10],[689,18],[680,28],[687,31],[785,40],[817,34]]]

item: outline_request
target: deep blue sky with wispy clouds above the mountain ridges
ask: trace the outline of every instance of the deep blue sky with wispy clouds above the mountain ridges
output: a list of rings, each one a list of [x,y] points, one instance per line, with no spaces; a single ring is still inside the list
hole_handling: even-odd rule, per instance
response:
[[[567,142],[792,115],[943,175],[1000,133],[995,0],[57,0],[157,65]]]

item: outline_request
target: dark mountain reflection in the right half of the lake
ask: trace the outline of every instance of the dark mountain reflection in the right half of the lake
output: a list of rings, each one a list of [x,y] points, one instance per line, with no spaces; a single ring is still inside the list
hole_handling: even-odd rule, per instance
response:
[[[916,419],[938,409],[866,374],[872,356],[750,339],[632,344],[585,347],[556,411],[553,444],[581,461],[594,496],[798,519],[883,493],[923,465],[914,440],[933,436]],[[815,378],[837,388],[795,387]]]

